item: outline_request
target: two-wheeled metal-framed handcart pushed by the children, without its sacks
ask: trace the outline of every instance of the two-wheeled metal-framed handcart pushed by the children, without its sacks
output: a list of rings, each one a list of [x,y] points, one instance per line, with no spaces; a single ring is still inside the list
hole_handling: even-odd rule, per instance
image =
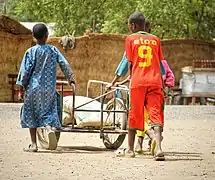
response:
[[[57,81],[62,85],[61,90],[61,103],[63,104],[63,92],[64,86],[68,86],[67,81]],[[99,96],[92,98],[91,101],[86,102],[82,105],[75,107],[75,86],[71,85],[72,88],[72,116],[74,117],[74,113],[77,111],[81,112],[100,112],[100,125],[99,127],[77,127],[75,121],[72,124],[67,126],[62,126],[60,129],[55,129],[55,134],[57,141],[60,139],[61,132],[73,132],[73,133],[99,133],[100,138],[103,140],[103,143],[107,149],[118,149],[127,134],[127,119],[128,119],[128,87],[125,85],[119,85],[117,87],[112,87],[109,91],[106,91],[107,82],[97,81],[97,80],[89,80],[87,85],[87,96],[89,96],[89,90],[92,84],[97,84],[100,86]],[[121,94],[121,97],[117,97],[117,93]],[[100,101],[101,108],[100,110],[92,110],[92,109],[82,109],[83,106],[92,103],[93,101]],[[106,103],[106,104],[105,104]],[[105,105],[105,108],[104,108]],[[62,105],[63,107],[63,105]],[[104,117],[106,117],[104,119]],[[111,124],[106,125],[105,121],[108,118],[111,119]],[[38,140],[43,149],[48,149],[49,142],[48,136],[45,128],[40,128],[37,131]]]

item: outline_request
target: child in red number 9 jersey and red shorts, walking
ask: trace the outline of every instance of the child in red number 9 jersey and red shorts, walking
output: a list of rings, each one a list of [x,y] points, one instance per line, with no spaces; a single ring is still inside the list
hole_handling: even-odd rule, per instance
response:
[[[155,133],[155,159],[164,160],[161,148],[163,129],[163,82],[160,61],[163,59],[160,40],[144,32],[143,13],[133,13],[128,20],[133,33],[126,38],[125,51],[130,62],[130,103],[128,121],[128,149],[122,156],[135,157],[134,141],[136,130],[144,130],[144,106],[149,113],[151,126]]]

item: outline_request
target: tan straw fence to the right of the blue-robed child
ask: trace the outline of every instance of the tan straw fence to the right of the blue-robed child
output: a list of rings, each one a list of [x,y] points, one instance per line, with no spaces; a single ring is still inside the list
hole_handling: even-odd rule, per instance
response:
[[[58,38],[49,43],[57,46],[67,57],[78,82],[78,94],[86,94],[89,79],[111,81],[124,51],[123,35],[91,34],[76,39],[76,47],[67,53],[61,49]],[[215,43],[192,39],[163,40],[163,54],[174,71],[176,83],[181,78],[181,68],[192,66],[196,59],[215,59]]]

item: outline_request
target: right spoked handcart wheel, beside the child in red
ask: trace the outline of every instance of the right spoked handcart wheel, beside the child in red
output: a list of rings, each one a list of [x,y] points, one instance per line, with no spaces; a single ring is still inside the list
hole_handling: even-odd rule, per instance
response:
[[[114,109],[114,99],[110,100],[107,104],[106,110]],[[123,101],[119,98],[115,99],[115,110],[127,110]],[[108,113],[106,122],[110,120],[111,116],[113,117],[113,112]],[[113,118],[112,118],[113,119]],[[115,113],[115,127],[116,129],[126,130],[127,129],[127,114],[125,113]],[[107,149],[118,149],[124,139],[126,134],[104,134],[103,143]]]

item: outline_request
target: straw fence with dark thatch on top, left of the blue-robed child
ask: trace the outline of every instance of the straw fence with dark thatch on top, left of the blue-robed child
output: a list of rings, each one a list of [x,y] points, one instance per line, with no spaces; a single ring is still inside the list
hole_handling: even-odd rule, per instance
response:
[[[0,16],[0,101],[11,101],[7,75],[19,71],[20,60],[32,45],[31,31],[17,21]]]

